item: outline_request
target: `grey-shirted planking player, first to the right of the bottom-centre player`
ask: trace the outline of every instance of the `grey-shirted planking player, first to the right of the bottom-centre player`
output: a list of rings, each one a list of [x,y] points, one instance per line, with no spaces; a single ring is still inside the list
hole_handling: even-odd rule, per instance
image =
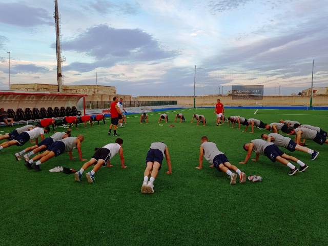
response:
[[[200,151],[199,151],[199,166],[197,169],[203,167],[203,157],[211,163],[210,168],[215,167],[219,172],[227,173],[230,176],[230,185],[235,185],[237,174],[239,175],[239,182],[246,182],[245,173],[241,172],[236,166],[231,165],[226,155],[219,151],[214,142],[209,142],[207,136],[203,136],[200,139]],[[231,172],[235,171],[237,174]]]

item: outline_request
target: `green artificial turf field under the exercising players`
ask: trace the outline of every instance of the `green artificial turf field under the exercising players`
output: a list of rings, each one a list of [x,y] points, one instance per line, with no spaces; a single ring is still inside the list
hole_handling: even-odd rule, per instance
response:
[[[226,115],[255,117],[264,122],[279,119],[328,130],[327,111],[227,109]],[[169,123],[175,111],[168,112]],[[213,109],[183,110],[186,122],[159,127],[158,112],[149,113],[149,124],[139,117],[128,118],[118,134],[124,139],[127,169],[114,168],[95,174],[96,182],[75,182],[73,174],[50,173],[55,166],[79,169],[83,162],[67,154],[44,163],[42,172],[27,170],[11,147],[0,152],[0,232],[2,245],[327,245],[327,157],[328,145],[308,141],[320,152],[311,161],[305,153],[292,155],[307,163],[304,173],[289,176],[289,169],[261,156],[259,162],[238,165],[246,152],[245,142],[260,138],[255,134],[216,127]],[[206,127],[190,124],[193,113],[207,117]],[[108,136],[109,121],[78,130],[85,135],[83,157],[89,159],[94,147],[114,142]],[[242,127],[243,128],[243,127]],[[58,128],[63,131],[63,128]],[[1,128],[1,131],[12,128]],[[250,129],[249,129],[250,131]],[[208,168],[197,170],[200,137],[216,142],[231,163],[247,175],[260,175],[263,182],[229,184],[226,174]],[[154,194],[141,194],[146,153],[153,141],[165,142],[172,159],[172,175],[166,161],[154,182]],[[27,144],[26,146],[29,146]],[[26,147],[25,146],[25,147]],[[286,153],[290,153],[285,150]],[[77,157],[77,151],[73,154]],[[255,155],[254,155],[255,156]],[[90,170],[89,170],[90,171]],[[86,173],[86,172],[85,172]],[[84,175],[85,175],[84,173]]]

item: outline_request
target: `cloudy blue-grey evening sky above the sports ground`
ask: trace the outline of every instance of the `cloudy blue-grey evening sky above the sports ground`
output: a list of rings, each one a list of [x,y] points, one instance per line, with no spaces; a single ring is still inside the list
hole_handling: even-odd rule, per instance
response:
[[[265,94],[328,86],[327,0],[58,0],[65,85],[120,94]],[[53,1],[0,0],[0,89],[56,83]]]

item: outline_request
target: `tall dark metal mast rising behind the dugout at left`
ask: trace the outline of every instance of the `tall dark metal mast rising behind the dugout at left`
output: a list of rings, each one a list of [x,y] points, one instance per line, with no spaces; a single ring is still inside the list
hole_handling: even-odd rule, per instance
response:
[[[63,81],[61,80],[61,77],[63,76],[61,74],[61,50],[60,50],[60,23],[59,23],[59,13],[58,13],[58,0],[55,1],[55,13],[54,13],[54,18],[55,18],[55,23],[56,23],[56,54],[57,54],[57,84],[58,84],[58,92],[61,92],[62,86],[63,86]]]

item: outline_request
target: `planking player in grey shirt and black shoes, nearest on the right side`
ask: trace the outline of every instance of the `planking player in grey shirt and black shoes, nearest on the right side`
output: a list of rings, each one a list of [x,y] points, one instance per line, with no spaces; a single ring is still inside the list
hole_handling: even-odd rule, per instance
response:
[[[244,144],[243,148],[245,151],[247,151],[247,155],[245,157],[245,160],[240,161],[239,164],[246,164],[252,156],[252,151],[254,151],[256,153],[256,157],[255,159],[252,159],[252,161],[258,161],[260,155],[265,155],[272,162],[275,162],[277,160],[283,165],[289,167],[291,169],[288,173],[289,175],[294,175],[297,171],[303,172],[308,168],[308,165],[306,165],[301,160],[283,153],[275,144],[273,144],[273,142],[267,142],[263,139],[254,139],[251,140],[251,142],[249,142],[248,144]],[[295,161],[298,165],[301,166],[301,168],[296,168],[288,160]]]

